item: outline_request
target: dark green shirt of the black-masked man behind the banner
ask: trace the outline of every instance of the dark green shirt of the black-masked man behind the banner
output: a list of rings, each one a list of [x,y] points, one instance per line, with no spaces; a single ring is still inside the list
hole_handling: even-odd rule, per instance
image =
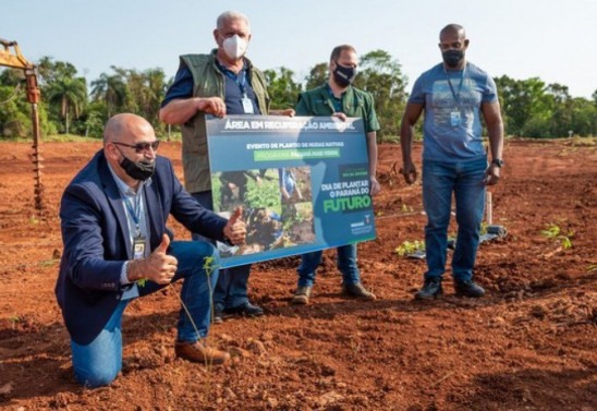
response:
[[[332,96],[327,84],[301,93],[295,107],[296,116],[331,116],[334,113]],[[379,130],[370,93],[355,87],[346,88],[342,96],[342,112],[363,119],[365,132]]]

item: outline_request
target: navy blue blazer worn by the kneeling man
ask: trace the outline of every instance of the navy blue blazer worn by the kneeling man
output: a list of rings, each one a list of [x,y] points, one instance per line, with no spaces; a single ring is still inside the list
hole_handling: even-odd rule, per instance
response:
[[[157,156],[151,184],[144,190],[151,251],[168,231],[170,214],[190,231],[224,241],[228,220],[202,207],[183,189],[166,157]],[[121,194],[103,150],[64,190],[60,219],[64,252],[56,295],[71,338],[87,344],[114,312],[122,293],[122,266],[133,258]]]

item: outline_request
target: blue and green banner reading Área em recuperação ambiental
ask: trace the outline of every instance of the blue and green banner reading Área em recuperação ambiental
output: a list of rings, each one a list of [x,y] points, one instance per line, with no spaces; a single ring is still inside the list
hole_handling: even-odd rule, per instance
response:
[[[375,239],[363,120],[227,116],[207,120],[214,210],[243,208],[246,243],[220,266]]]

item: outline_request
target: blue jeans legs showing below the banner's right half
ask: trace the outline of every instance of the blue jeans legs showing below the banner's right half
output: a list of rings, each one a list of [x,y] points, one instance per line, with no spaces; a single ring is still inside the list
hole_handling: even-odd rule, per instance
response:
[[[338,269],[342,273],[342,283],[351,285],[361,281],[358,267],[356,266],[356,244],[342,245],[338,251]],[[315,283],[315,269],[321,264],[324,251],[314,251],[301,256],[298,273],[298,287],[313,287]]]

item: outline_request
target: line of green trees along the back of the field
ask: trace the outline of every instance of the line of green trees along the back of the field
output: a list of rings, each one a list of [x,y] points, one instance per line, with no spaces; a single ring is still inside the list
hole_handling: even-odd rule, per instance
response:
[[[69,62],[44,57],[37,67],[42,135],[99,138],[107,119],[118,112],[137,113],[153,123],[158,135],[166,133],[167,125],[159,121],[158,112],[172,78],[167,78],[162,69],[138,71],[112,65],[109,73],[87,83]],[[272,108],[288,108],[294,106],[298,93],[327,81],[328,63],[313,67],[302,82],[284,67],[265,70],[264,74]],[[502,75],[495,81],[507,135],[536,138],[597,135],[597,89],[589,100],[572,97],[568,86],[546,84],[539,77],[514,80]],[[374,96],[381,126],[379,141],[397,141],[409,97],[407,85],[400,62],[387,51],[374,50],[361,57],[355,86]],[[32,135],[31,107],[25,93],[22,71],[0,72],[0,137]],[[421,137],[421,129],[417,134]]]

